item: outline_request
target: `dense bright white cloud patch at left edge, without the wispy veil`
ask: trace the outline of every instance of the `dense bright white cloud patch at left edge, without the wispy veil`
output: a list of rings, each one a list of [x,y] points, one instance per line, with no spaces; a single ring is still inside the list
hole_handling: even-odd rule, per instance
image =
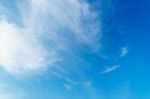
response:
[[[0,64],[10,73],[34,71],[56,62],[46,61],[47,55],[55,58],[54,53],[47,53],[35,38],[6,21],[0,22],[0,45]]]

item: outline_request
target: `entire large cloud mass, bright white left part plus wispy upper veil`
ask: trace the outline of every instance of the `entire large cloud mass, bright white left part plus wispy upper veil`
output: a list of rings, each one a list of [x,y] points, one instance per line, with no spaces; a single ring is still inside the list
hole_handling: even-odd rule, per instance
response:
[[[2,12],[5,17],[0,21],[0,65],[9,73],[46,71],[66,55],[75,55],[78,47],[99,49],[98,13],[86,1],[27,0],[16,4],[19,13],[14,16],[19,24]]]

